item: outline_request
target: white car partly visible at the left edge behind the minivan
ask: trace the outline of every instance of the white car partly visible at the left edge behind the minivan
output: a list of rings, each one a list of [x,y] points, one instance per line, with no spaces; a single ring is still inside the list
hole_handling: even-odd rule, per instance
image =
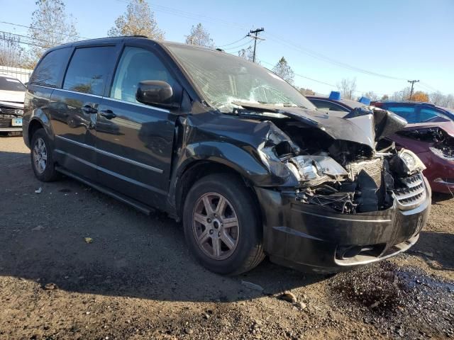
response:
[[[21,134],[26,90],[20,80],[0,74],[0,133]]]

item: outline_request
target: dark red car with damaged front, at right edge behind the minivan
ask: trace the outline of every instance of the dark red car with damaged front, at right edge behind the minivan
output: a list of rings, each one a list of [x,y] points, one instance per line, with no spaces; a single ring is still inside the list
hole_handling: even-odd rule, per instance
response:
[[[410,149],[426,165],[432,191],[454,193],[454,111],[431,103],[375,101],[409,123],[394,134],[397,147]]]

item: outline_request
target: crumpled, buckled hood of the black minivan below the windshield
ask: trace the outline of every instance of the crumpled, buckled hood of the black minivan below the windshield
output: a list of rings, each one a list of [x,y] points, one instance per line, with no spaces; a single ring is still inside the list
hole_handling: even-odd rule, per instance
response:
[[[318,128],[334,140],[346,140],[368,145],[375,149],[375,142],[392,135],[406,125],[406,120],[382,109],[357,108],[344,118],[305,108],[282,107],[257,103],[235,103],[243,108],[280,113],[305,125]]]

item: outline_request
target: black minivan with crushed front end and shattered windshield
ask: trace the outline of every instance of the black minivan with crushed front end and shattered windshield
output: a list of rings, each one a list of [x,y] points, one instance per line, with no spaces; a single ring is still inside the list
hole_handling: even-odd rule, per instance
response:
[[[426,224],[421,161],[384,137],[405,120],[316,110],[258,64],[204,47],[103,38],[52,48],[26,94],[41,181],[65,174],[182,220],[211,271],[265,255],[335,272],[405,251]]]

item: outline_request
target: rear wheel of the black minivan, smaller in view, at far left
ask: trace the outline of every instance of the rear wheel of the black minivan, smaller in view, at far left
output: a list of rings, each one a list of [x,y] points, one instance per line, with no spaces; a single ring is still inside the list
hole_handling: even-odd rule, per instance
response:
[[[31,167],[37,179],[43,182],[55,181],[60,174],[55,171],[52,148],[45,130],[40,128],[31,138]]]

